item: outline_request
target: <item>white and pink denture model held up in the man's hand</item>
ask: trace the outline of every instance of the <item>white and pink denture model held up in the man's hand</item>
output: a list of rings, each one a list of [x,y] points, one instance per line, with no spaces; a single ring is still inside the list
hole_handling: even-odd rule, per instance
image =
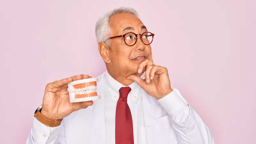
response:
[[[70,102],[81,102],[100,99],[97,94],[98,78],[86,78],[68,84]]]

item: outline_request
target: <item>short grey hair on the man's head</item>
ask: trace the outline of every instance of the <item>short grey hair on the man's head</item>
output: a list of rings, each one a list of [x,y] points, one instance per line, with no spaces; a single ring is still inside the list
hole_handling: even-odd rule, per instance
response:
[[[108,37],[110,36],[109,19],[112,16],[116,14],[121,14],[121,13],[129,13],[136,17],[139,17],[138,12],[133,8],[120,7],[110,12],[107,12],[103,17],[101,17],[96,22],[95,35],[96,35],[97,43],[105,42],[108,45],[108,47],[110,47],[110,43],[108,41]]]

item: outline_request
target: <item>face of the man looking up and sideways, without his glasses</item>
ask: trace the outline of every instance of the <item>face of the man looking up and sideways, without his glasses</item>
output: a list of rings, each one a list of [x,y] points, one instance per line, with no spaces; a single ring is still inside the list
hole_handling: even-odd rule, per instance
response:
[[[140,19],[132,14],[114,15],[110,18],[109,25],[111,29],[110,37],[124,35],[129,32],[135,34],[147,32],[147,28]],[[125,37],[128,40],[131,38],[128,35]],[[118,75],[136,74],[140,62],[145,59],[152,59],[151,46],[145,45],[141,41],[140,35],[138,35],[136,44],[132,46],[125,44],[124,37],[110,39],[110,48],[106,54],[108,55],[105,59],[107,67],[116,71]]]

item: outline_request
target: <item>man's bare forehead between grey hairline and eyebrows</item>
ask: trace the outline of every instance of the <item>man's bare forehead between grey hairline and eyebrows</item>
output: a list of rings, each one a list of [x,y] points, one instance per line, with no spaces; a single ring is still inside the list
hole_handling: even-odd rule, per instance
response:
[[[122,33],[124,28],[132,27],[135,31],[140,31],[144,24],[136,16],[128,13],[121,13],[112,16],[109,20],[109,26],[113,34]]]

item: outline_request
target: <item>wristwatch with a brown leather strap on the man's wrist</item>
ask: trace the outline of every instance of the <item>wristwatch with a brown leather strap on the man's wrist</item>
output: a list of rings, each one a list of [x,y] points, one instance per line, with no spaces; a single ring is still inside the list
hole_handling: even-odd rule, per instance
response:
[[[34,116],[36,119],[41,122],[42,124],[49,126],[49,127],[57,127],[61,124],[62,119],[49,119],[41,114],[41,110],[43,108],[43,105],[40,105],[36,111]]]

